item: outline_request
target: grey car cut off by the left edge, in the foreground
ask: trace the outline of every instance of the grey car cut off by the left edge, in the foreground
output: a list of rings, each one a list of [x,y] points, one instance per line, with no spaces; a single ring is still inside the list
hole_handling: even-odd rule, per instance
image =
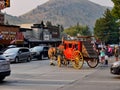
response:
[[[0,55],[0,81],[11,74],[10,62],[3,55]]]

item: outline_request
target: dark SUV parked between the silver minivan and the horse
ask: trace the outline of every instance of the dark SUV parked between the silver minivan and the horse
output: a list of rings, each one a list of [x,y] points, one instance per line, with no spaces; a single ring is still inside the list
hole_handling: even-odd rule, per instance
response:
[[[48,46],[35,46],[31,48],[31,54],[33,58],[37,59],[44,59],[45,57],[48,57]]]

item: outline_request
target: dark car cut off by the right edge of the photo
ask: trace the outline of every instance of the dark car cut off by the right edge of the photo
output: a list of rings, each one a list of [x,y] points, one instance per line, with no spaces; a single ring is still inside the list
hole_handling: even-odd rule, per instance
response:
[[[115,75],[120,75],[120,61],[116,61],[111,65],[110,72]]]

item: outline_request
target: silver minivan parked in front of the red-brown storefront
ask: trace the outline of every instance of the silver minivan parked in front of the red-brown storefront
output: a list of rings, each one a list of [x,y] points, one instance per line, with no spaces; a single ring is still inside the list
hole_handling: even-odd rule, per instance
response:
[[[31,61],[31,52],[27,47],[16,47],[7,49],[3,55],[10,62]]]

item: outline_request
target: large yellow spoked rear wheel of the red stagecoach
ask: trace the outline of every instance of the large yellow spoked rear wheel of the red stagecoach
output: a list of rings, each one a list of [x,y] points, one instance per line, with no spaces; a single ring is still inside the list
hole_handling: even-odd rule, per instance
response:
[[[75,69],[81,69],[83,66],[84,60],[82,53],[80,51],[73,52],[72,65]]]

